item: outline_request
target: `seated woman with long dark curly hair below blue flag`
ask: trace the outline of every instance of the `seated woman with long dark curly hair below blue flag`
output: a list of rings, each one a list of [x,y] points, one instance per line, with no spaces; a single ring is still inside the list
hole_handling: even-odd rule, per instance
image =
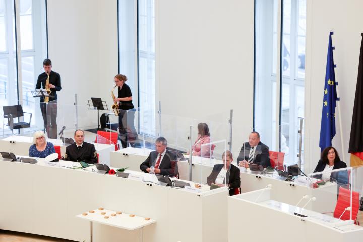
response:
[[[329,172],[335,169],[346,168],[347,165],[345,162],[341,161],[339,158],[339,154],[337,150],[333,146],[326,147],[323,152],[321,153],[321,158],[318,162],[318,165],[315,167],[314,172]],[[329,173],[327,173],[329,174]],[[329,177],[324,177],[319,175],[319,179],[326,179],[330,181],[336,181],[339,184],[346,185],[348,184],[348,172],[347,171],[340,171],[340,172],[332,172]]]

